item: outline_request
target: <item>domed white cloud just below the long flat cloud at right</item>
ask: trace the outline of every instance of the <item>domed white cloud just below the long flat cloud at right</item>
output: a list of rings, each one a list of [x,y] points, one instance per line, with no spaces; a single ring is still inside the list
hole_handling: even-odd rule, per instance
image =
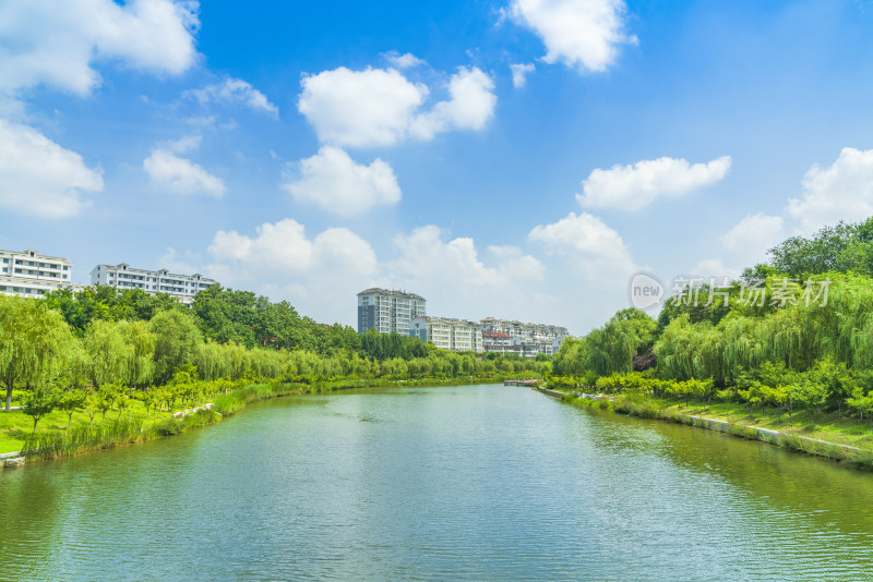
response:
[[[541,242],[550,253],[571,258],[591,279],[636,268],[621,235],[587,213],[570,213],[551,225],[539,225],[528,239]]]

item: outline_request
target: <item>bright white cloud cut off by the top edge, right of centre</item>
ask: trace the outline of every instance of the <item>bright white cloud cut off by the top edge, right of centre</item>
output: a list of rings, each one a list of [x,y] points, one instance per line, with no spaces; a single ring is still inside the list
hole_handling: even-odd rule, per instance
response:
[[[636,43],[623,34],[622,0],[513,0],[510,14],[530,27],[548,50],[543,60],[579,71],[605,71],[618,46]]]

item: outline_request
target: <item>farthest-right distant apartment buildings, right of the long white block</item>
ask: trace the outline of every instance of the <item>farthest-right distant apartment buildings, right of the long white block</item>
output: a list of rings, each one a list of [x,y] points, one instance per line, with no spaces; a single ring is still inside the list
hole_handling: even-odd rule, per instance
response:
[[[545,324],[524,324],[516,319],[486,317],[482,326],[482,345],[486,352],[536,357],[551,355],[570,334],[565,327]]]

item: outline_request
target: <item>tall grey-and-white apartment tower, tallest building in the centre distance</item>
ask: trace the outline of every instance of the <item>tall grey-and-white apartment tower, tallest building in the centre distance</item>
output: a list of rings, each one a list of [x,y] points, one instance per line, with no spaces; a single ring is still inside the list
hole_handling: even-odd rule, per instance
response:
[[[380,334],[409,334],[409,322],[423,316],[424,298],[393,289],[366,289],[358,293],[358,334],[375,329]]]

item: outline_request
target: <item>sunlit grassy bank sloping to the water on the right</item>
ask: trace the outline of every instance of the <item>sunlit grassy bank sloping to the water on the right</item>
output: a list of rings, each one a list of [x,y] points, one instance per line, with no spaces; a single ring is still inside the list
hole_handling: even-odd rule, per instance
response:
[[[678,399],[654,398],[645,395],[618,395],[612,400],[576,398],[567,393],[564,399],[573,405],[609,410],[629,416],[655,419],[690,426],[707,427],[702,419],[727,423],[723,432],[753,440],[764,440],[778,447],[839,461],[852,466],[873,470],[873,435],[870,424],[859,419],[838,415],[816,417],[813,425],[806,413],[794,413],[791,422],[787,414],[777,411],[750,412],[748,405],[730,402],[704,407]],[[721,429],[722,427],[719,427]],[[756,428],[777,432],[762,433]]]

